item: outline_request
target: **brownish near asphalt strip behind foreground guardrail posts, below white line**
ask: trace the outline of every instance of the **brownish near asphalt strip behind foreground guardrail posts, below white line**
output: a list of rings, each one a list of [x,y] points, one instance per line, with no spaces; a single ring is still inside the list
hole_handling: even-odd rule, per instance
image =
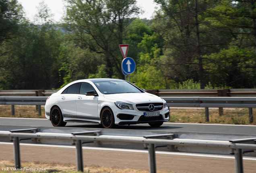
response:
[[[20,147],[21,161],[76,165],[76,151],[74,146],[20,145]],[[13,146],[10,144],[0,144],[0,153],[0,159],[12,160]],[[149,169],[148,153],[147,151],[140,152],[140,150],[138,152],[108,151],[83,147],[83,163],[85,166],[94,165],[115,167],[118,169]],[[175,153],[169,155],[166,152],[156,153],[156,163],[158,171],[172,173],[235,173],[235,159],[225,157],[200,157],[175,155]],[[255,160],[244,159],[243,164],[245,173],[255,173]],[[21,167],[23,167],[23,163],[21,163]],[[51,169],[49,167],[43,168],[47,171]],[[126,172],[129,171],[126,170]],[[140,171],[138,170],[137,172]]]

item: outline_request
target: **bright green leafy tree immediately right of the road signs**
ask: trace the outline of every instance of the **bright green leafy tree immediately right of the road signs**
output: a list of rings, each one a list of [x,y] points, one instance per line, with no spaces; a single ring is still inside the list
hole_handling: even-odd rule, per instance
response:
[[[137,44],[141,52],[138,53],[136,72],[131,74],[131,81],[143,89],[170,89],[174,82],[163,76],[161,66],[158,66],[163,42],[161,36],[152,31],[148,32],[150,35],[144,32]]]

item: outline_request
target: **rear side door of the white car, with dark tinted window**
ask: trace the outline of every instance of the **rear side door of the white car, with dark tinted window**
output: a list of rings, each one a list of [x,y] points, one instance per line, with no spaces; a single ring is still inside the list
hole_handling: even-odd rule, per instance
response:
[[[81,82],[72,84],[58,97],[63,117],[76,118],[76,96]]]

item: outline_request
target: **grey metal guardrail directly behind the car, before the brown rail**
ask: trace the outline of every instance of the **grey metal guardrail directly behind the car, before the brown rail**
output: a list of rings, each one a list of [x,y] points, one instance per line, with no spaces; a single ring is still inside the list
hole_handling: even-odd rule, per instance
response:
[[[48,97],[0,97],[0,105],[38,105],[38,114],[41,115],[41,106],[45,105]],[[168,107],[205,107],[205,118],[209,121],[209,107],[249,108],[249,120],[253,122],[252,108],[256,108],[256,97],[161,97]]]

